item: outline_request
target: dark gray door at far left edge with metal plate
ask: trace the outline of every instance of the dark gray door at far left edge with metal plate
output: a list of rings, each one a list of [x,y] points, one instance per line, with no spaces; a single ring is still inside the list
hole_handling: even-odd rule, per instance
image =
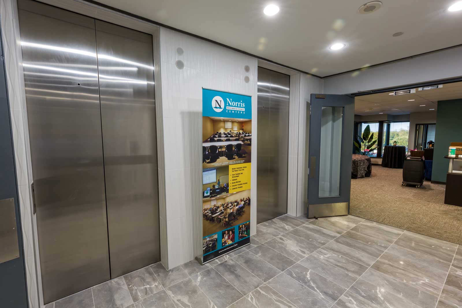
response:
[[[0,39],[0,306],[27,308],[10,107]]]

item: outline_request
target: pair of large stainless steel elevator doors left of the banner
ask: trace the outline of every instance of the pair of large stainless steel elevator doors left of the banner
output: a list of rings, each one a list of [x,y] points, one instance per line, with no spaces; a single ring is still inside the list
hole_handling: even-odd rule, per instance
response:
[[[160,260],[152,36],[19,8],[48,303]]]

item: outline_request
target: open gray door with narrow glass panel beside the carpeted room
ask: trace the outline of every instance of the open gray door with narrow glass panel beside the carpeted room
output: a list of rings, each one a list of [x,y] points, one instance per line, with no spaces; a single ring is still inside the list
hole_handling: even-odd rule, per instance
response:
[[[311,94],[308,217],[347,215],[354,98]]]

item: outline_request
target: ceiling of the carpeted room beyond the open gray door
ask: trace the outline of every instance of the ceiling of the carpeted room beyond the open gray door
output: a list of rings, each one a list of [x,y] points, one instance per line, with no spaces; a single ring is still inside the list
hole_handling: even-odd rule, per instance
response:
[[[462,98],[462,82],[445,84],[442,88],[419,91],[403,95],[389,95],[393,92],[369,94],[355,97],[355,115],[406,115],[411,112],[425,112],[438,109],[438,101]],[[409,102],[408,100],[414,101]],[[420,106],[425,105],[425,106]],[[369,110],[369,111],[366,111]]]

